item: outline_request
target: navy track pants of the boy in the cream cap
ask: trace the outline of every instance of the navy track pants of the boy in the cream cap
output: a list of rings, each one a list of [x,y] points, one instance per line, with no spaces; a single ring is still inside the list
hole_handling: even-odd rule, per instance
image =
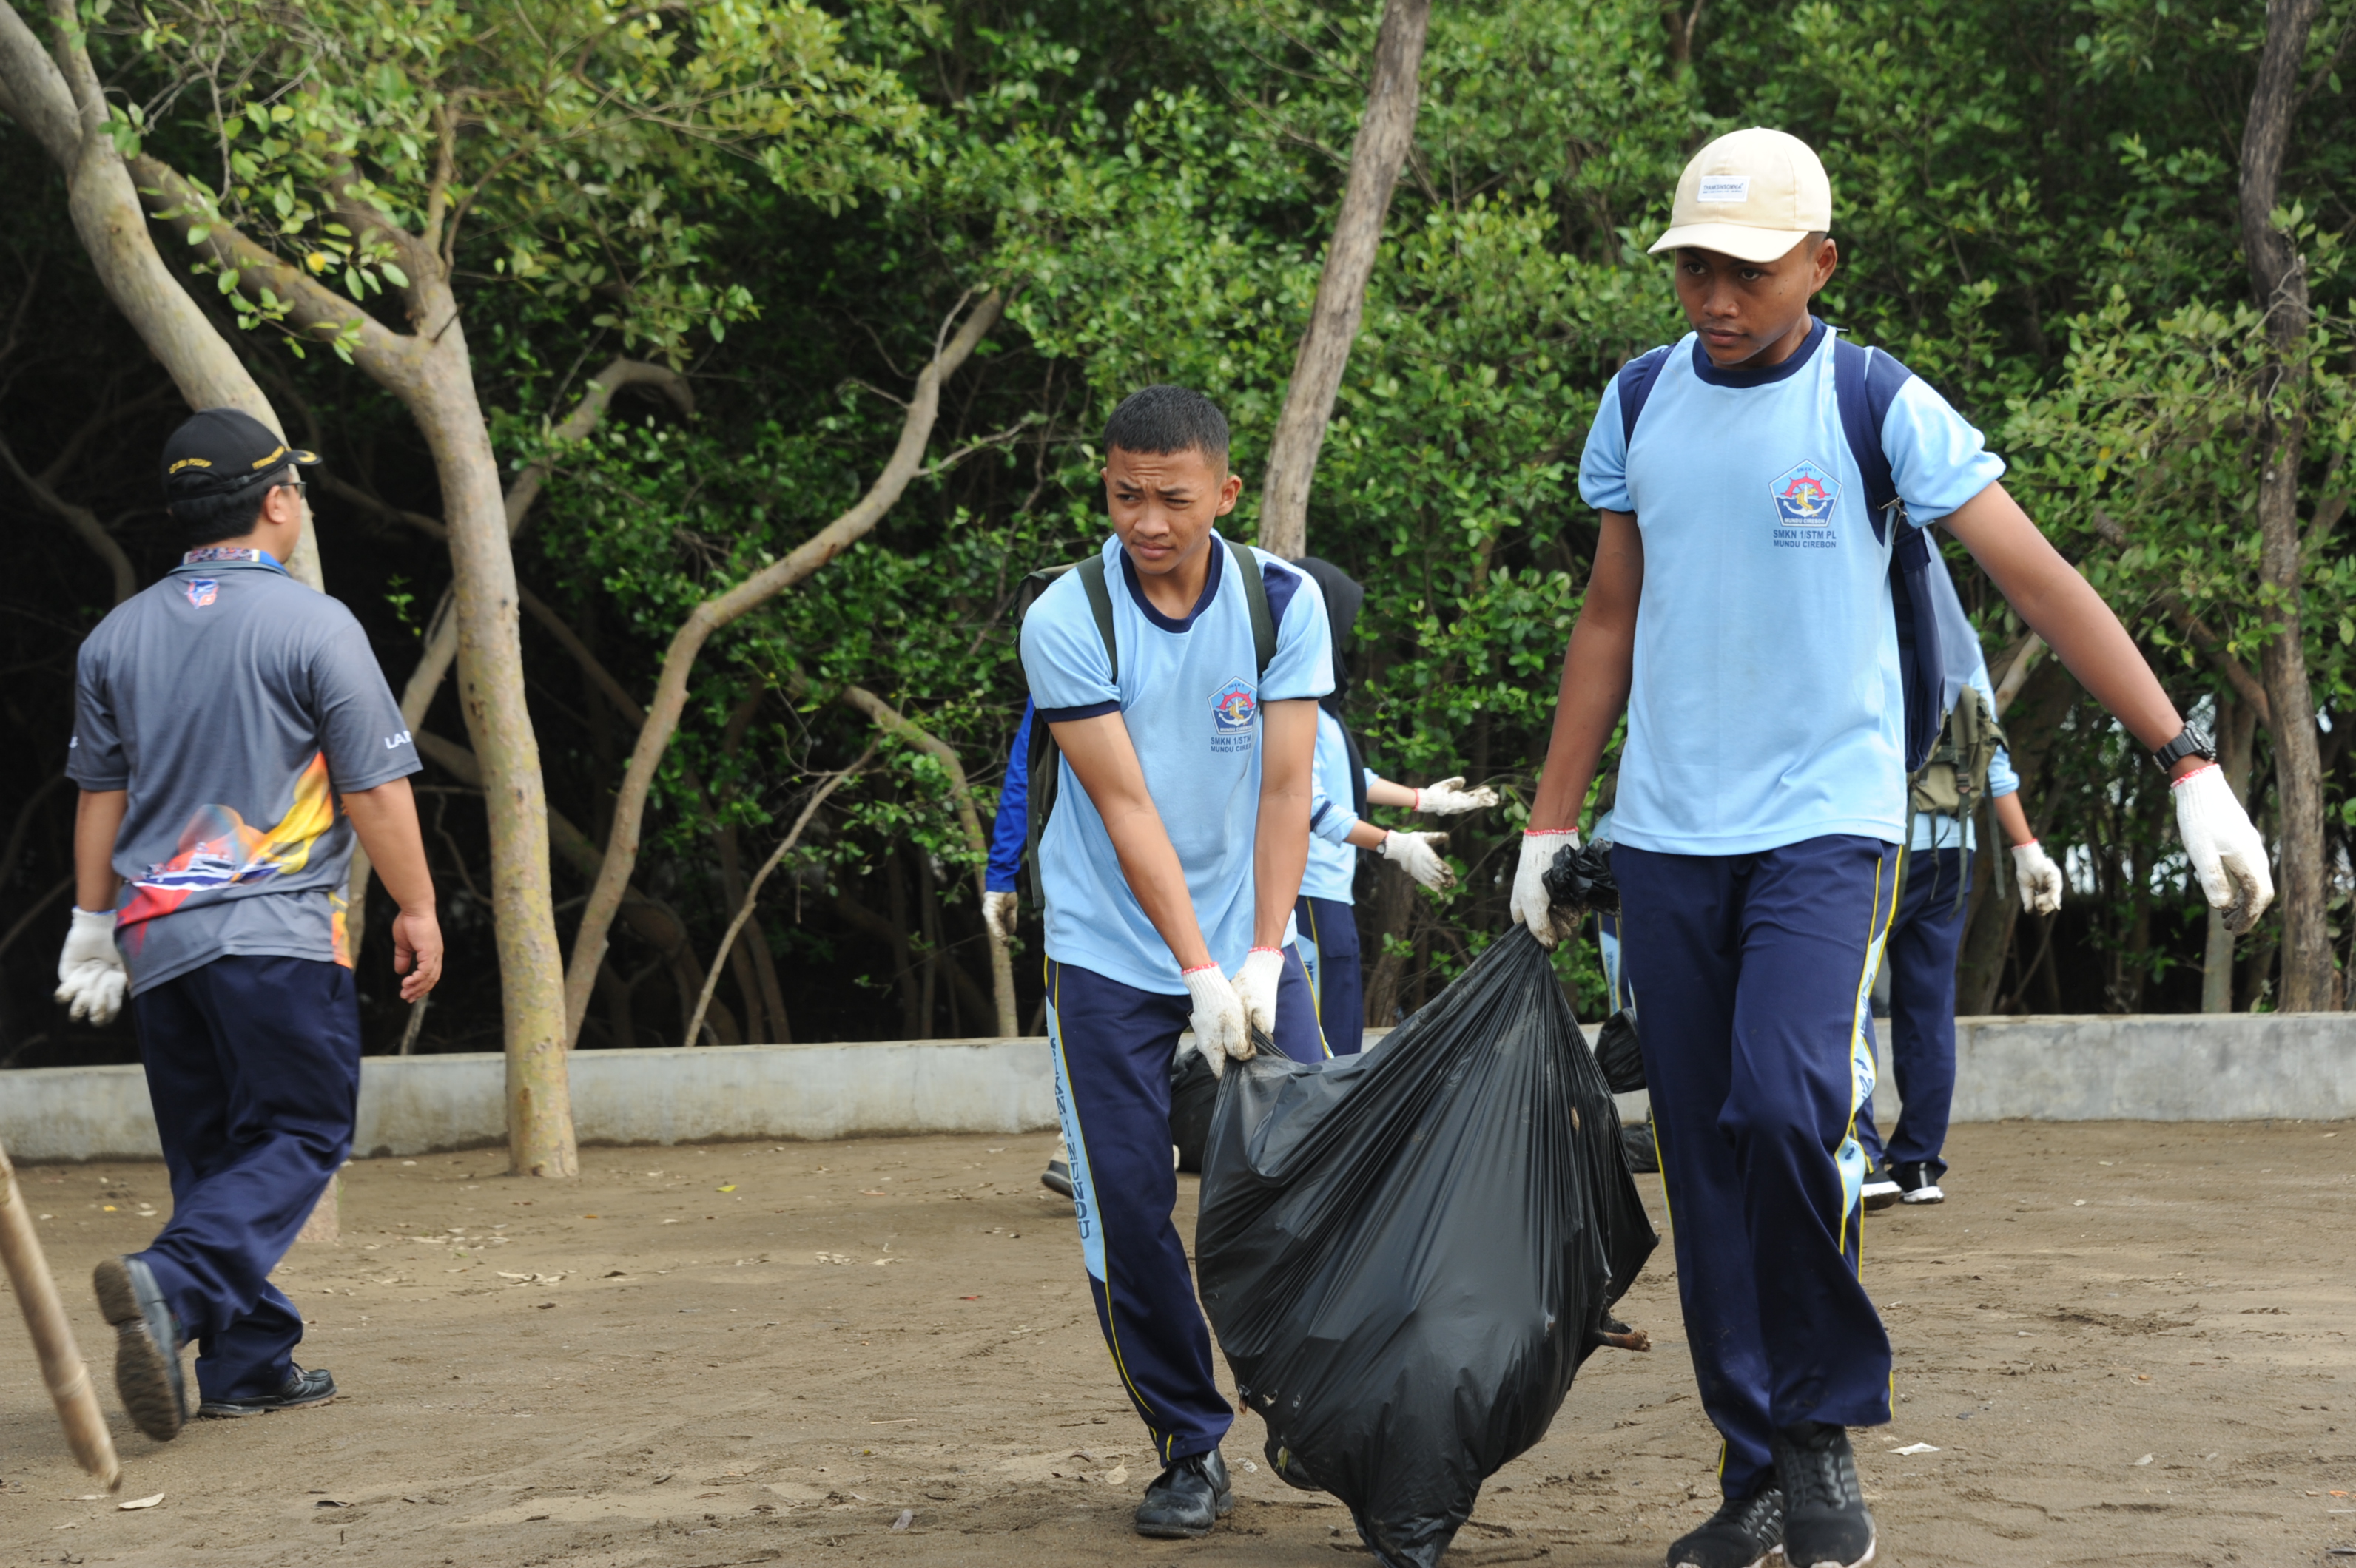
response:
[[[1720,1486],[1774,1476],[1769,1434],[1890,1420],[1890,1335],[1857,1278],[1873,1090],[1866,1010],[1899,852],[1826,836],[1755,855],[1619,845],[1644,996],[1661,1182]]]

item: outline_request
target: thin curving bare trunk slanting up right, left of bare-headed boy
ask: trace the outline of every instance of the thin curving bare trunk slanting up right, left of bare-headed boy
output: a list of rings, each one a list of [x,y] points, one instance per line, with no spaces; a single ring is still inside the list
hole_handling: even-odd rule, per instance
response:
[[[1006,297],[990,292],[973,306],[957,337],[933,351],[933,363],[916,374],[916,393],[909,398],[907,419],[900,424],[900,445],[893,450],[891,461],[884,464],[884,473],[876,476],[876,483],[851,511],[827,523],[785,560],[695,605],[686,624],[671,636],[671,645],[662,655],[655,702],[648,704],[646,723],[638,725],[638,744],[629,753],[629,770],[622,775],[622,789],[615,791],[605,869],[598,873],[596,888],[589,890],[580,932],[573,937],[573,963],[565,970],[565,1041],[573,1038],[589,1010],[596,968],[605,961],[605,935],[613,930],[613,916],[622,906],[622,888],[638,866],[638,831],[646,826],[646,796],[655,786],[655,770],[662,765],[662,753],[669,751],[671,737],[679,732],[679,716],[688,706],[688,676],[695,671],[695,657],[712,640],[712,633],[785,593],[858,544],[884,520],[884,513],[893,509],[900,492],[907,490],[924,464],[926,443],[933,438],[933,424],[940,417],[942,381],[957,374],[957,367],[980,346],[982,334],[997,325],[1004,308]]]

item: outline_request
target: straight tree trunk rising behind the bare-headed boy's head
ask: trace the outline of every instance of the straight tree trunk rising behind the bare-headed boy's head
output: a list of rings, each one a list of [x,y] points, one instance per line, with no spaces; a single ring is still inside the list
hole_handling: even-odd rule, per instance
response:
[[[1423,33],[1430,21],[1432,0],[1383,5],[1366,115],[1357,122],[1357,141],[1350,144],[1350,184],[1333,219],[1333,242],[1326,247],[1324,275],[1317,278],[1310,330],[1293,358],[1293,384],[1284,393],[1284,412],[1268,445],[1268,476],[1260,485],[1260,549],[1286,560],[1308,553],[1310,483],[1317,478],[1317,452],[1333,419],[1341,372],[1357,339],[1357,318],[1366,308],[1366,278],[1374,275],[1374,252],[1383,242],[1390,191],[1399,184],[1399,167],[1416,141],[1416,71],[1423,66]]]

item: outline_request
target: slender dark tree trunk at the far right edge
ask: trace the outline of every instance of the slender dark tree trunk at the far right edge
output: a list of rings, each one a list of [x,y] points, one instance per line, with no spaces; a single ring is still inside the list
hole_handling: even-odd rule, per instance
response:
[[[2274,226],[2283,153],[2302,99],[2299,61],[2321,0],[2269,0],[2266,45],[2257,57],[2250,120],[2241,137],[2241,247],[2257,308],[2266,313],[2266,403],[2257,443],[2257,579],[2278,629],[2264,640],[2266,699],[2274,709],[2274,777],[2281,805],[2283,862],[2283,1012],[2340,1005],[2332,968],[2330,885],[2323,864],[2323,765],[2316,756],[2316,706],[2307,683],[2299,626],[2299,459],[2307,445],[2309,351],[2314,311],[2307,261]]]

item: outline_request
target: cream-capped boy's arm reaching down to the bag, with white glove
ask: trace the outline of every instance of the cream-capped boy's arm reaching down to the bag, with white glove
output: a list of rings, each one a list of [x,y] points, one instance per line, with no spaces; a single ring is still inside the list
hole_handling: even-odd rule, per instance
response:
[[[1543,876],[1555,852],[1579,843],[1579,812],[1595,782],[1595,763],[1612,739],[1612,725],[1628,706],[1628,683],[1635,671],[1635,610],[1644,596],[1644,537],[1635,513],[1604,511],[1602,537],[1595,544],[1595,572],[1588,577],[1586,605],[1571,626],[1571,647],[1562,659],[1562,690],[1555,695],[1555,735],[1546,746],[1546,772],[1529,803],[1529,826],[1522,833],[1522,859],[1513,873],[1513,918],[1553,946],[1576,925],[1579,911],[1553,911]]]

